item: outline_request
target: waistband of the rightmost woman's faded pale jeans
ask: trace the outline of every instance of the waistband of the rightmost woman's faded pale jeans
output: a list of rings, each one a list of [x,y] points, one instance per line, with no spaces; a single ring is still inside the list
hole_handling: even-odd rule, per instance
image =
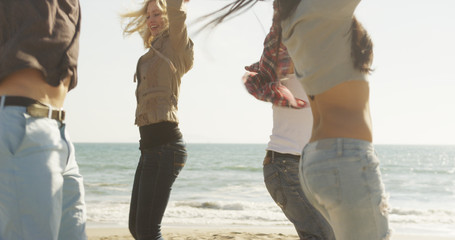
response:
[[[317,150],[374,150],[373,143],[353,138],[328,138],[308,143],[304,152]]]

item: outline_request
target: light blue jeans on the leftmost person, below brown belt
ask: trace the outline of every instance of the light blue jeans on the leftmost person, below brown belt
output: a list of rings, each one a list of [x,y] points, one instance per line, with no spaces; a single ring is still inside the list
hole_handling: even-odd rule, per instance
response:
[[[65,124],[0,106],[0,239],[87,239],[85,221]]]

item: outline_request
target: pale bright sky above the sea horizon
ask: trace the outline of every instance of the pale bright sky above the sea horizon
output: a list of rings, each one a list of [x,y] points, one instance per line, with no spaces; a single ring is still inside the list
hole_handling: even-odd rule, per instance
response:
[[[134,125],[138,35],[119,14],[141,0],[80,0],[79,83],[65,102],[73,142],[138,142]],[[191,0],[194,67],[182,79],[180,129],[187,143],[267,143],[272,109],[245,90],[244,66],[259,60],[271,1],[197,34],[195,19],[226,0]],[[364,0],[356,15],[374,42],[370,106],[375,144],[455,145],[455,1]],[[302,127],[305,126],[304,123]]]

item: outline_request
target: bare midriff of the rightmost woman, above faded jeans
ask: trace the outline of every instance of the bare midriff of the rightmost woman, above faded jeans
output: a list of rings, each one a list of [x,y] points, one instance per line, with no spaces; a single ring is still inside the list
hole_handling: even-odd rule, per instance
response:
[[[314,122],[310,142],[327,138],[373,141],[368,82],[338,84],[315,95],[311,109]]]

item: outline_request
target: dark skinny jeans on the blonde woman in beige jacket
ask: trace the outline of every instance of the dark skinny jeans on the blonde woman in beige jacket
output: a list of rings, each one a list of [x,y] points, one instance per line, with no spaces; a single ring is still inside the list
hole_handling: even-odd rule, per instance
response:
[[[135,239],[159,240],[172,184],[187,159],[182,140],[143,149],[131,195],[129,229]]]

